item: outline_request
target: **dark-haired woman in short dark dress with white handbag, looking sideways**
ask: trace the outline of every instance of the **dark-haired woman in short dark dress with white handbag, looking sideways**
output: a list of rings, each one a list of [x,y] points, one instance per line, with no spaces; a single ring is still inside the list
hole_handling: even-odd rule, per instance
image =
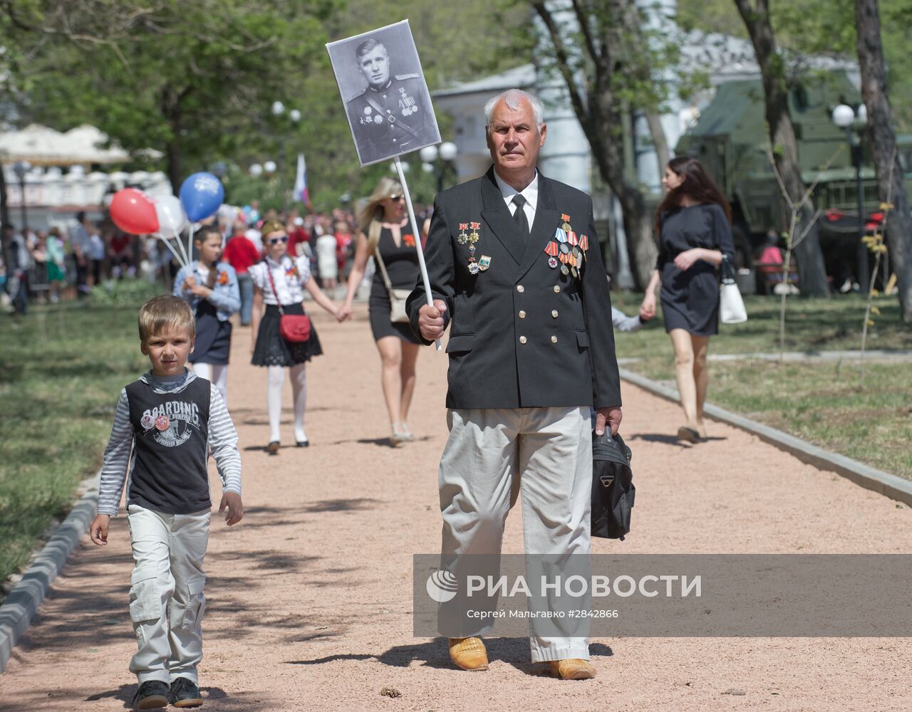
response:
[[[734,259],[731,209],[700,165],[686,156],[668,162],[662,185],[668,194],[656,213],[659,235],[656,269],[639,313],[656,314],[661,285],[665,330],[675,349],[675,371],[687,424],[678,439],[706,438],[703,404],[710,383],[706,355],[719,332],[719,274],[722,260]]]

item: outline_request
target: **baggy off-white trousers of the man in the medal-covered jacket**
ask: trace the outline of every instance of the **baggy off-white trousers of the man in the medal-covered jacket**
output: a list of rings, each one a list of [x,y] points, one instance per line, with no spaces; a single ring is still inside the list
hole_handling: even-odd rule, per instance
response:
[[[520,496],[526,554],[589,553],[587,406],[451,409],[447,424],[450,438],[440,459],[441,558],[501,552],[507,513]],[[534,662],[589,657],[588,638],[533,636],[531,645]]]

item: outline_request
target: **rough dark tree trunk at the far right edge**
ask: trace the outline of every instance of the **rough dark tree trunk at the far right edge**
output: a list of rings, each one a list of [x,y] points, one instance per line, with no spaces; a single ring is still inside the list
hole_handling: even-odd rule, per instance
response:
[[[896,272],[903,321],[912,323],[912,212],[903,183],[903,169],[896,153],[893,112],[886,92],[886,67],[880,40],[877,0],[855,0],[858,29],[858,64],[861,94],[867,108],[867,136],[874,154],[877,194],[895,208],[886,221],[890,263]]]

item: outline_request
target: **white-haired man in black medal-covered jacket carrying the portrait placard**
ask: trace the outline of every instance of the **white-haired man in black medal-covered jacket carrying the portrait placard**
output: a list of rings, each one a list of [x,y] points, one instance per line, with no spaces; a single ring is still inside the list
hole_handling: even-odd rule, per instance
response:
[[[425,248],[433,305],[421,284],[407,303],[425,344],[450,328],[450,437],[438,482],[440,565],[450,573],[475,554],[498,561],[519,499],[527,567],[536,555],[587,561],[593,427],[615,434],[621,420],[592,199],[536,169],[547,131],[539,99],[510,89],[484,111],[493,165],[438,194]],[[487,669],[481,635],[492,624],[447,605],[438,625],[451,661]],[[588,627],[553,630],[533,625],[533,662],[561,679],[595,676]]]

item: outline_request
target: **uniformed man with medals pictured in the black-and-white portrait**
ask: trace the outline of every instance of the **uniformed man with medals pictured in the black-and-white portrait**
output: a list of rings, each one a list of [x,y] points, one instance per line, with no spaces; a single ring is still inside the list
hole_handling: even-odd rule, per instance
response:
[[[438,140],[418,72],[389,76],[386,46],[369,37],[355,51],[368,86],[347,103],[362,163],[392,158]]]

